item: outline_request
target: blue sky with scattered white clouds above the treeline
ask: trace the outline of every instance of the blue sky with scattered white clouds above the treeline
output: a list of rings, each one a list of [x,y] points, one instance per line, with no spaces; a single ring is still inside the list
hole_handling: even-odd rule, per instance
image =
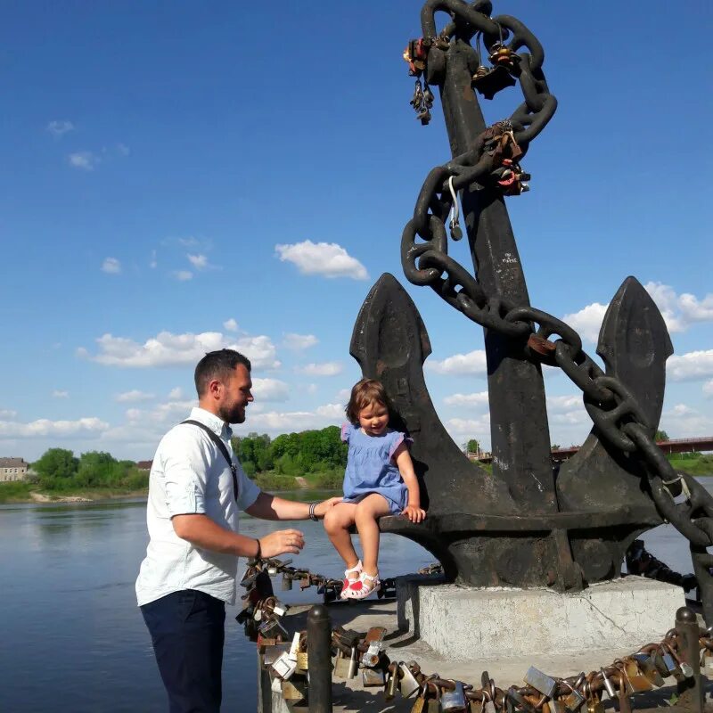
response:
[[[456,442],[489,445],[482,331],[403,276],[399,241],[449,159],[401,59],[420,4],[4,5],[0,455],[152,457],[193,406],[204,351],[253,360],[238,432],[341,420],[356,314],[390,272],[421,311],[426,377]],[[676,355],[661,426],[713,433],[708,3],[496,2],[545,47],[559,109],[507,199],[532,304],[594,355],[627,275]],[[440,20],[441,24],[443,19]],[[519,89],[480,100],[488,122]],[[465,259],[463,246],[454,250]],[[590,428],[547,370],[551,440]]]

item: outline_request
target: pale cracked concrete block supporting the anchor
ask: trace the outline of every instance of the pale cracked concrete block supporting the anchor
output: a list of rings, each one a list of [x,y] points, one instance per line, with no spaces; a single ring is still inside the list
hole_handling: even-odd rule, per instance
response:
[[[451,660],[628,649],[660,641],[684,591],[629,576],[561,594],[397,578],[398,627]]]

